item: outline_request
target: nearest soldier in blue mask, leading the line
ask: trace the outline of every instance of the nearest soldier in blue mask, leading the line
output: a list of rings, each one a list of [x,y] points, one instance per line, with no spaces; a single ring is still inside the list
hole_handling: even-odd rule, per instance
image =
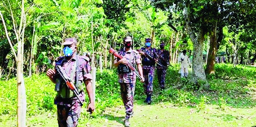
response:
[[[63,42],[63,53],[65,56],[58,57],[55,60],[55,65],[62,66],[67,76],[74,82],[79,94],[78,97],[82,102],[85,101],[84,86],[90,98],[88,110],[93,112],[95,109],[92,89],[92,76],[90,74],[91,67],[88,64],[89,59],[86,56],[78,56],[76,54],[77,40],[75,38],[65,39]],[[55,68],[56,68],[55,66]],[[81,113],[82,103],[78,100],[75,94],[67,87],[55,70],[49,69],[47,76],[55,83],[55,91],[57,96],[54,99],[54,104],[57,105],[57,119],[59,127],[76,127],[78,125],[78,118]]]

